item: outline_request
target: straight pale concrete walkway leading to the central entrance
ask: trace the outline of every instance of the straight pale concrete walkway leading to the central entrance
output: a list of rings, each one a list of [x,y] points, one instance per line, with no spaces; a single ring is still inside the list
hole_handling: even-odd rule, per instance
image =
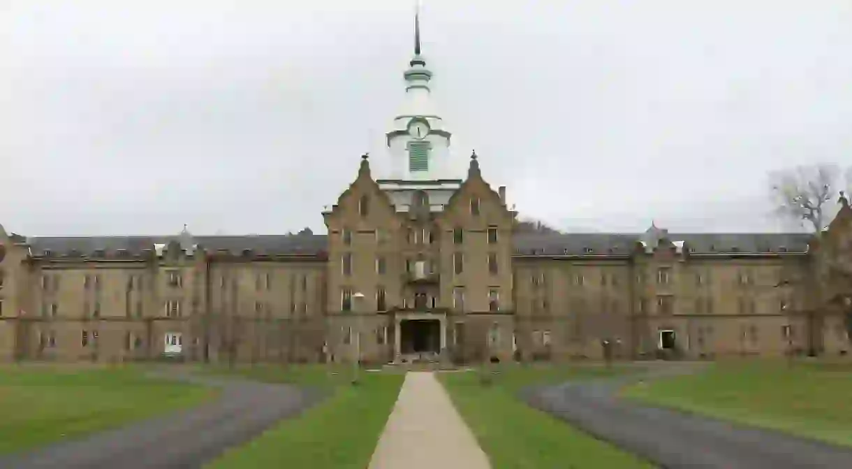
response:
[[[370,469],[487,469],[488,457],[431,372],[409,372]]]

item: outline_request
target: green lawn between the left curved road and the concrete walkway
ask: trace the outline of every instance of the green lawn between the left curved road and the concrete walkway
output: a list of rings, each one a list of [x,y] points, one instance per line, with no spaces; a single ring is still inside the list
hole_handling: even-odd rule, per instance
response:
[[[319,386],[331,396],[298,417],[282,421],[250,443],[227,451],[210,464],[209,467],[216,469],[363,469],[370,463],[405,378],[401,373],[362,373],[360,385],[353,386],[349,385],[348,368],[310,365],[246,367],[233,373],[267,382]]]

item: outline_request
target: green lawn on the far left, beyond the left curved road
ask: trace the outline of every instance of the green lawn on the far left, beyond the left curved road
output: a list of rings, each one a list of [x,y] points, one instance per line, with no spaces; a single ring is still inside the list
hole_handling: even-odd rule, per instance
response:
[[[0,367],[0,454],[106,430],[216,396],[142,368]]]

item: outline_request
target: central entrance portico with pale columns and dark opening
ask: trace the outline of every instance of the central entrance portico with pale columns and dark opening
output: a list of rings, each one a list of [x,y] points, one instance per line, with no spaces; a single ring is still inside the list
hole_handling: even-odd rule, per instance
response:
[[[438,356],[446,348],[446,313],[397,312],[394,315],[394,361],[403,356]]]

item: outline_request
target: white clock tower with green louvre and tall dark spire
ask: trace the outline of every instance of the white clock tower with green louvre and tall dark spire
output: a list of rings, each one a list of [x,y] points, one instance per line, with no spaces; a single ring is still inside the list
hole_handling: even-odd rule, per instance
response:
[[[429,93],[432,72],[420,51],[420,12],[414,15],[414,56],[403,73],[406,101],[386,134],[393,177],[406,181],[452,177],[447,162],[450,132],[444,127]]]

